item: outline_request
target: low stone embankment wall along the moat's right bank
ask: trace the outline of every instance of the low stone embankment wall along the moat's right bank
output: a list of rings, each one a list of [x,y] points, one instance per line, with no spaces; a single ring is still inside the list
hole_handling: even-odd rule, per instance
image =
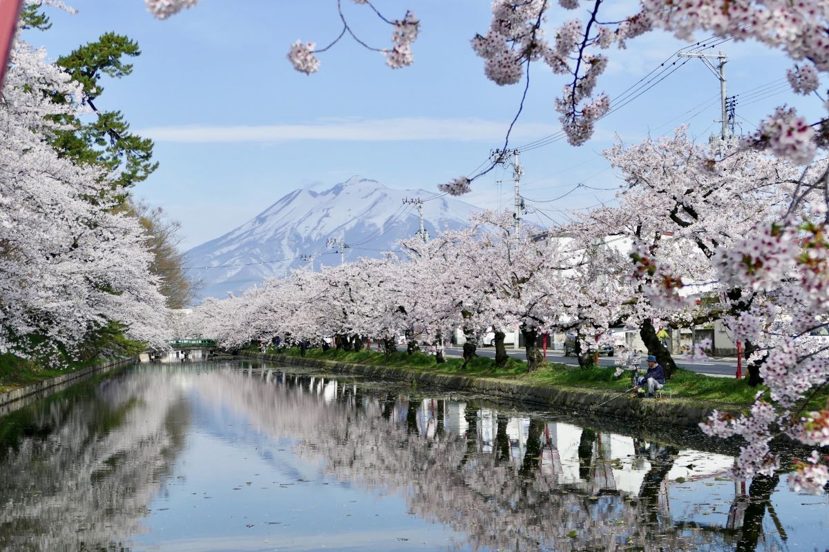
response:
[[[556,389],[495,378],[450,376],[448,374],[417,372],[404,368],[368,366],[313,358],[297,358],[288,355],[245,354],[245,357],[283,362],[295,366],[318,367],[332,372],[357,374],[398,382],[416,382],[418,385],[433,386],[439,389],[481,393],[532,405],[580,410],[592,414],[616,416],[624,420],[647,422],[647,424],[668,424],[696,428],[697,424],[705,420],[705,417],[712,410],[710,407],[688,404],[681,401],[681,399],[631,398],[605,391]],[[616,398],[608,401],[614,396]]]

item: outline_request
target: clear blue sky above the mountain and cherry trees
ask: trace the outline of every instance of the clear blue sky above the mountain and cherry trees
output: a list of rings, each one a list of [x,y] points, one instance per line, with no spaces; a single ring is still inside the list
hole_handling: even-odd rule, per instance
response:
[[[50,8],[51,30],[30,31],[26,38],[46,46],[53,58],[106,31],[138,41],[143,53],[134,60],[133,74],[106,81],[96,105],[123,111],[133,130],[156,141],[161,166],[135,194],[182,222],[184,247],[235,228],[291,190],[328,188],[351,175],[393,188],[434,190],[502,146],[521,98],[522,86],[488,81],[469,46],[475,32],[487,29],[489,2],[481,0],[377,0],[387,17],[402,17],[411,7],[420,18],[414,65],[390,70],[380,54],[344,40],[320,56],[320,72],[311,76],[293,70],[285,54],[297,39],[322,45],[337,36],[335,0],[201,0],[167,21],[154,19],[142,0],[68,3],[76,15]],[[377,46],[389,43],[390,28],[367,7],[343,5],[362,38]],[[613,20],[635,6],[611,0],[604,14]],[[554,10],[548,26],[584,17],[585,10],[586,4],[578,13]],[[651,33],[630,41],[627,50],[610,50],[599,89],[610,94],[613,107],[614,95],[684,44]],[[754,43],[720,48],[730,56],[729,94],[746,98],[737,108],[745,132],[783,102],[817,118],[817,98],[797,98],[778,86],[791,65],[783,55]],[[559,130],[552,100],[564,84],[545,66],[533,66],[512,145]],[[710,71],[690,60],[600,121],[586,145],[574,148],[562,140],[527,151],[521,156],[522,194],[538,200],[528,204],[539,210],[526,218],[550,223],[561,219],[560,210],[612,204],[620,181],[599,154],[614,136],[638,142],[649,132],[657,136],[688,122],[704,142],[719,127],[718,94]],[[496,208],[502,179],[510,175],[492,171],[464,199]],[[599,190],[579,188],[547,202],[579,182]],[[511,194],[505,182],[500,204],[511,202]]]

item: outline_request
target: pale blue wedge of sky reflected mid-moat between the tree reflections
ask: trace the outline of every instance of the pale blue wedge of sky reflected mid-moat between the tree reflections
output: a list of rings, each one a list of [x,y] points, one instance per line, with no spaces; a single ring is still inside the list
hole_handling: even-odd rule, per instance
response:
[[[290,439],[270,439],[226,405],[210,410],[197,396],[191,396],[191,405],[187,448],[150,504],[148,532],[135,538],[135,550],[444,550],[451,545],[453,531],[407,514],[403,497],[368,494],[322,476],[318,464],[293,454]]]

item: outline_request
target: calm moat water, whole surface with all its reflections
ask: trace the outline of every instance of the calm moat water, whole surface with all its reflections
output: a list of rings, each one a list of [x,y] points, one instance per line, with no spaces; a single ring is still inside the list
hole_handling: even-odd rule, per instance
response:
[[[0,418],[0,550],[829,550],[829,496],[731,481],[738,447],[262,362],[138,364]]]

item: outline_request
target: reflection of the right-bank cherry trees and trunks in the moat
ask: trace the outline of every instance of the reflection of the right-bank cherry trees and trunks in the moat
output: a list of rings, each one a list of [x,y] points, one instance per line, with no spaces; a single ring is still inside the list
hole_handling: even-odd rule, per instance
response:
[[[671,519],[676,447],[593,430],[570,447],[551,436],[560,424],[317,376],[227,371],[198,382],[201,396],[272,437],[298,439],[298,453],[328,475],[402,494],[410,511],[467,535],[473,550],[732,550],[719,528]],[[639,478],[628,490],[609,455],[619,439],[634,452],[625,473]]]

